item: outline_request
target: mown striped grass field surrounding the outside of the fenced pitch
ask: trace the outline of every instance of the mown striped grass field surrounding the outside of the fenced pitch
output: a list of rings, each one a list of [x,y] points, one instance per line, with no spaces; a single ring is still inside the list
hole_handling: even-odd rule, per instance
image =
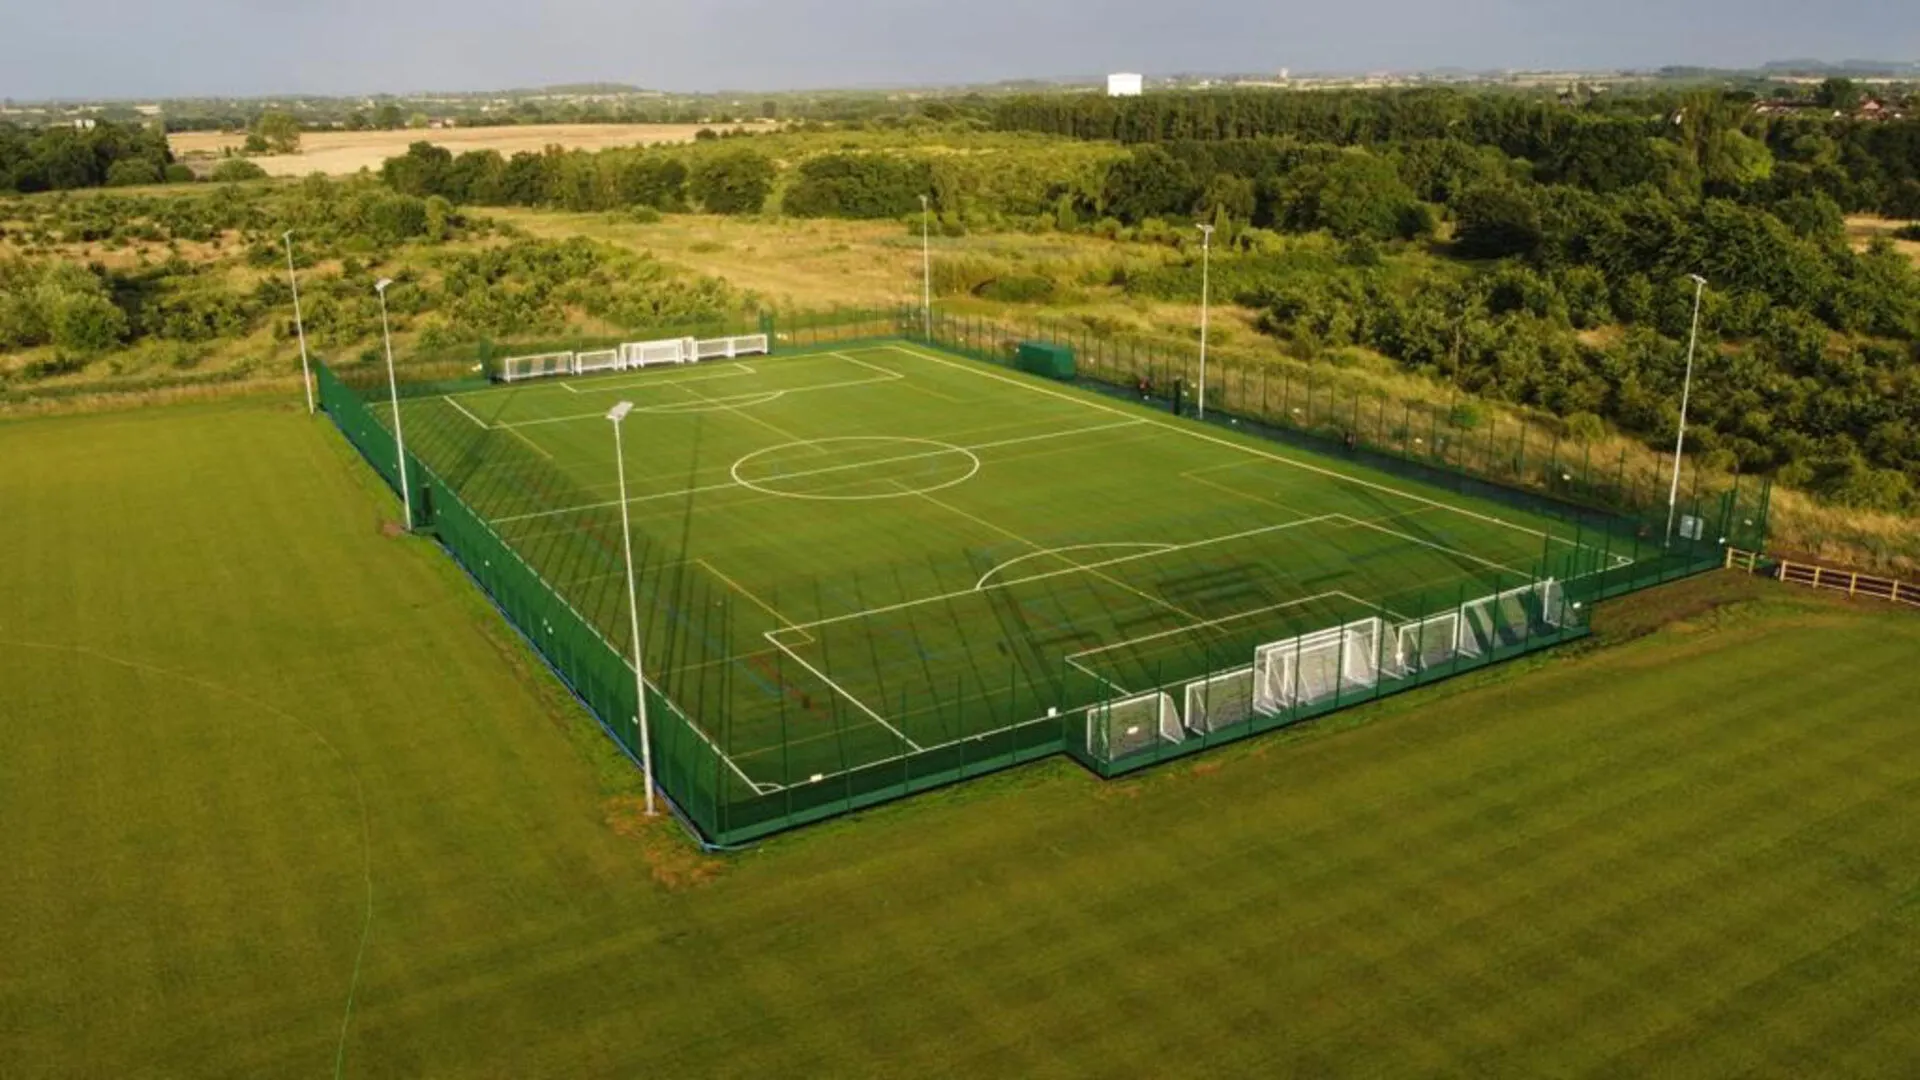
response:
[[[1903,613],[1699,580],[1286,738],[707,859],[324,421],[15,421],[0,459],[10,1078],[1920,1059]]]

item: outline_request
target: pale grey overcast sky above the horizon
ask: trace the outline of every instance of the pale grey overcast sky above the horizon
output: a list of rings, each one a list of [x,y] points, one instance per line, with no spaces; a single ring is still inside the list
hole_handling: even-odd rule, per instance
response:
[[[1920,60],[1920,0],[0,0],[0,96]]]

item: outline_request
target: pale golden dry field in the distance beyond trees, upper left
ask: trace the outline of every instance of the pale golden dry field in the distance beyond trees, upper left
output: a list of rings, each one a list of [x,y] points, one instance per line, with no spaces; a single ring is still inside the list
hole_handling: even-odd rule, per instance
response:
[[[300,138],[298,154],[263,156],[253,161],[273,177],[305,177],[326,173],[344,177],[361,169],[378,169],[380,161],[405,154],[413,142],[432,142],[455,154],[467,150],[607,150],[609,146],[653,146],[659,142],[687,142],[703,125],[697,123],[536,123],[520,127],[451,127],[445,131],[313,131]],[[718,127],[718,125],[716,125]],[[739,131],[772,131],[770,123],[730,125]],[[184,131],[169,135],[167,142],[179,158],[215,158],[223,150],[238,150],[246,135],[219,131]]]

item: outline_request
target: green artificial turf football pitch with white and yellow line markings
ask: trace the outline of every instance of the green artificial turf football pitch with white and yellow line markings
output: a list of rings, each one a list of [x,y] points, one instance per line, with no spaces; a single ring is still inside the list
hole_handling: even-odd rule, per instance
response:
[[[620,400],[649,676],[760,794],[1624,561],[906,342],[407,400],[409,450],[622,651]]]

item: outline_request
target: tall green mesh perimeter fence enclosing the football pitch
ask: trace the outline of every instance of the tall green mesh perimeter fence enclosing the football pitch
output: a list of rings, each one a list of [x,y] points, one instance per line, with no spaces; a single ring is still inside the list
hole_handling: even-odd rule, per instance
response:
[[[1023,340],[1071,344],[1081,386],[1144,396],[1169,409],[1177,400],[1179,411],[1198,421],[1198,402],[1188,398],[1188,386],[1198,388],[1196,357],[1068,332],[1054,323],[868,309],[764,315],[755,329],[770,336],[776,354],[904,338],[1006,369],[1016,369],[1016,346]],[[411,377],[399,396],[484,384],[470,367],[468,357],[407,365]],[[384,375],[374,365],[346,373],[317,365],[323,407],[397,494],[401,465],[382,415]],[[1565,521],[1572,540],[1563,552],[1548,544],[1528,575],[1492,573],[1444,592],[1359,598],[1352,613],[1302,613],[1273,625],[1279,628],[1263,640],[1213,642],[1160,665],[1144,688],[1119,690],[1071,663],[1052,669],[1033,657],[975,657],[972,684],[960,680],[950,696],[939,692],[933,701],[908,701],[902,692],[899,701],[902,713],[931,715],[950,738],[885,757],[858,749],[852,732],[862,717],[849,715],[839,696],[806,711],[797,707],[789,717],[781,694],[778,734],[768,742],[764,734],[739,732],[728,715],[735,665],[668,663],[695,675],[647,686],[659,788],[710,844],[739,844],[1054,753],[1117,776],[1584,636],[1599,600],[1715,569],[1724,563],[1726,544],[1759,546],[1764,536],[1764,482],[1718,484],[1688,471],[1668,542],[1665,486],[1630,469],[1624,455],[1596,463],[1592,450],[1563,432],[1515,423],[1482,427],[1484,421],[1469,423],[1457,409],[1390,402],[1336,379],[1233,357],[1210,363],[1208,386],[1206,423]],[[624,592],[605,584],[618,582],[618,517],[588,515],[549,548],[515,548],[482,513],[497,492],[480,488],[474,477],[488,475],[493,482],[511,477],[518,500],[549,505],[591,500],[580,500],[561,469],[515,440],[492,438],[472,425],[447,430],[463,430],[461,442],[422,444],[424,450],[409,444],[411,527],[447,550],[614,744],[639,761],[634,667],[620,646]],[[513,454],[518,459],[499,469],[501,457]],[[643,565],[653,550],[666,546],[636,534]],[[589,578],[599,586],[564,584]],[[701,648],[703,634],[728,640],[732,605],[733,594],[724,586],[676,578],[647,598],[647,640],[662,634],[668,653],[685,659]],[[689,611],[703,613],[705,623],[689,623]],[[787,686],[785,657],[774,665],[770,678]],[[1004,676],[995,675],[1002,667]],[[835,767],[795,774],[789,751],[822,740],[824,732],[839,748]],[[760,761],[778,759],[772,780],[739,767],[743,746]]]

